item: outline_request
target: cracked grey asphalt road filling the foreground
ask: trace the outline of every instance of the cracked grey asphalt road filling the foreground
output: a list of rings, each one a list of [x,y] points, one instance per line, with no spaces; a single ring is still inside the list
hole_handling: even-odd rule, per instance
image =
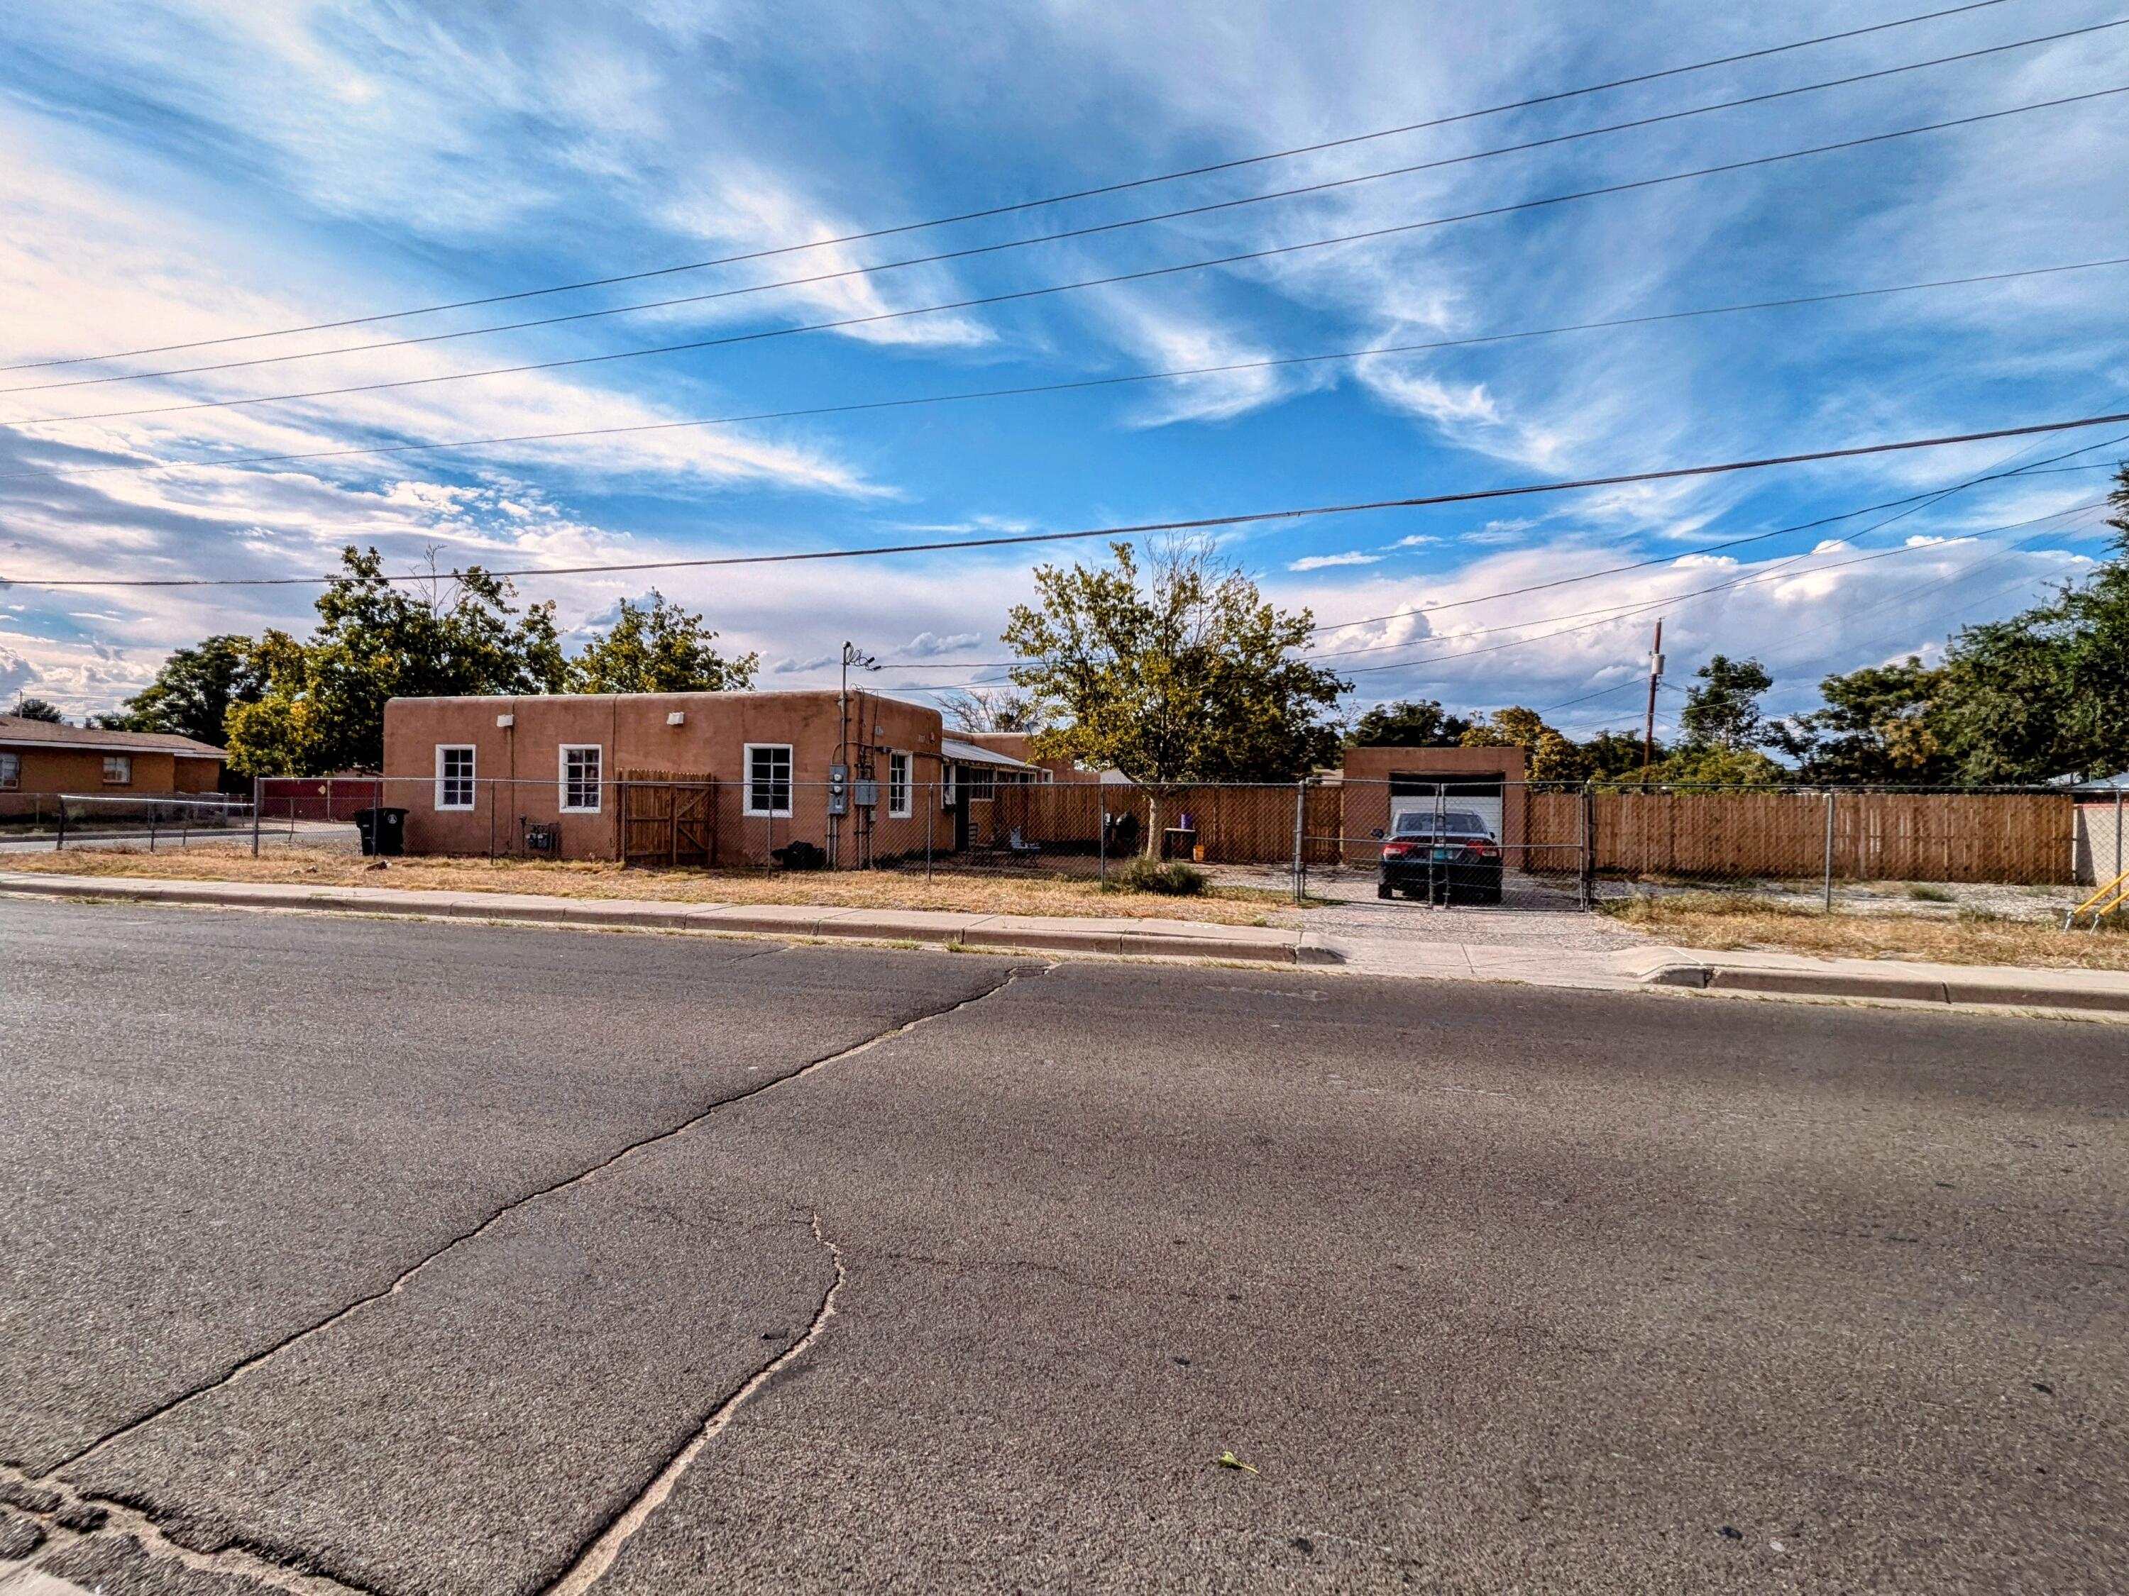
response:
[[[109,1596],[2129,1587],[2118,1028],[34,900],[0,970],[0,1496],[115,1504],[15,1515]]]

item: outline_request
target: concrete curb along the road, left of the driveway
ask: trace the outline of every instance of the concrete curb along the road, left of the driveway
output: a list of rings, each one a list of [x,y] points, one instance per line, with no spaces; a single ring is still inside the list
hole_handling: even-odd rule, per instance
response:
[[[692,930],[730,936],[847,936],[867,943],[1216,958],[1254,964],[1337,964],[1335,949],[1299,930],[1216,926],[1190,919],[1064,919],[973,915],[922,909],[835,909],[813,904],[681,904],[626,898],[539,898],[509,892],[402,892],[398,887],[300,887],[245,881],[160,881],[0,872],[0,892],[40,898],[117,898],[211,909],[302,909],[311,913],[400,915],[409,919],[500,919],[543,926]]]

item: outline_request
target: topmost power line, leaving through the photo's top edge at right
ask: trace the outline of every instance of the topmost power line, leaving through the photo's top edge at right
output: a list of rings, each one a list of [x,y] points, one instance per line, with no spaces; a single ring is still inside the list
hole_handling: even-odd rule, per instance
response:
[[[777,255],[790,255],[790,253],[798,253],[798,251],[807,251],[807,249],[832,249],[832,247],[839,247],[839,245],[867,243],[871,238],[892,238],[892,236],[898,236],[898,234],[922,232],[922,230],[928,230],[928,228],[947,228],[947,226],[954,226],[954,223],[960,223],[960,221],[981,221],[986,217],[1013,215],[1018,211],[1035,211],[1035,209],[1047,206],[1047,204],[1067,204],[1067,202],[1073,202],[1073,200],[1090,200],[1090,198],[1099,198],[1103,194],[1124,194],[1128,189],[1152,187],[1156,183],[1175,183],[1175,181],[1190,179],[1190,177],[1207,177],[1211,172],[1231,172],[1231,170],[1239,170],[1243,166],[1260,166],[1265,162],[1290,160],[1294,155],[1316,155],[1316,153],[1322,153],[1326,149],[1346,149],[1346,147],[1371,143],[1371,140],[1377,140],[1377,138],[1394,138],[1399,134],[1424,132],[1429,128],[1448,128],[1448,126],[1454,126],[1454,123],[1460,123],[1460,121],[1473,121],[1478,117],[1503,115],[1507,111],[1529,111],[1533,106],[1556,104],[1561,100],[1573,100],[1573,98],[1580,98],[1580,96],[1586,96],[1586,94],[1603,94],[1607,89],[1622,89],[1622,87],[1631,87],[1631,85],[1637,85],[1637,83],[1656,83],[1661,79],[1680,77],[1680,74],[1686,74],[1686,72],[1705,72],[1705,70],[1712,70],[1716,66],[1735,66],[1737,62],[1765,60],[1769,55],[1782,55],[1782,53],[1805,49],[1805,47],[1812,47],[1812,45],[1831,45],[1831,43],[1846,40],[1846,38],[1863,38],[1867,34],[1888,32],[1893,28],[1912,28],[1916,23],[1937,21],[1942,17],[1959,17],[1959,15],[1969,13],[1969,11],[1988,11],[1991,6],[1999,6],[1999,4],[2003,4],[2003,0],[1971,0],[1969,4],[1948,6],[1948,9],[1940,9],[1940,11],[1925,11],[1925,13],[1914,15],[1914,17],[1897,17],[1893,21],[1880,21],[1880,23],[1871,23],[1867,28],[1846,28],[1846,30],[1833,32],[1833,34],[1816,34],[1812,38],[1799,38],[1799,40],[1793,40],[1788,45],[1769,45],[1769,47],[1763,47],[1763,49],[1739,51],[1739,53],[1733,53],[1733,55],[1718,55],[1718,57],[1705,60],[1705,62],[1690,62],[1690,64],[1684,64],[1684,66],[1667,66],[1667,68],[1652,70],[1652,72],[1637,72],[1633,77],[1610,79],[1605,83],[1590,83],[1590,85],[1584,85],[1584,87],[1578,87],[1578,89],[1558,89],[1554,94],[1537,94],[1537,96],[1531,96],[1531,98],[1524,98],[1524,100],[1509,100],[1505,104],[1482,106],[1478,111],[1458,111],[1458,113],[1452,113],[1452,115],[1446,115],[1446,117],[1429,117],[1426,121],[1407,121],[1407,123],[1401,123],[1397,128],[1380,128],[1375,132],[1350,134],[1346,138],[1326,138],[1326,140],[1320,140],[1320,143],[1314,143],[1314,145],[1297,145],[1292,149],[1275,149],[1275,151],[1269,151],[1269,153],[1262,153],[1262,155],[1241,155],[1237,160],[1209,162],[1205,166],[1188,166],[1188,168],[1182,168],[1182,170],[1175,170],[1175,172],[1160,172],[1156,177],[1137,177],[1137,179],[1128,179],[1128,181],[1120,181],[1120,183],[1103,183],[1099,187],[1073,189],[1069,194],[1052,194],[1052,196],[1045,196],[1045,198],[1039,198],[1039,200],[1018,200],[1013,204],[994,204],[994,206],[984,206],[984,209],[977,209],[977,211],[960,211],[956,215],[930,217],[926,221],[905,221],[905,223],[898,223],[898,226],[892,226],[892,228],[869,228],[864,232],[849,232],[849,234],[841,234],[841,236],[835,236],[835,238],[813,238],[813,240],[807,240],[807,243],[801,243],[801,245],[779,245],[775,249],[754,249],[754,251],[745,251],[745,253],[739,253],[739,255],[720,255],[715,260],[683,262],[679,266],[656,266],[656,268],[639,270],[639,272],[617,272],[617,275],[611,275],[611,277],[592,277],[592,279],[583,279],[583,281],[575,281],[575,283],[554,283],[554,285],[547,285],[547,287],[528,287],[528,289],[517,289],[517,292],[511,292],[511,294],[483,294],[479,298],[451,300],[451,302],[445,302],[445,304],[419,304],[419,306],[411,306],[411,309],[405,309],[405,311],[377,311],[373,315],[343,317],[339,321],[311,321],[311,323],[304,323],[304,326],[275,328],[275,330],[268,330],[268,332],[241,332],[241,334],[230,334],[230,336],[224,336],[224,338],[194,338],[189,343],[166,343],[166,345],[151,345],[151,347],[145,347],[145,349],[121,349],[121,351],[113,351],[113,353],[104,353],[104,355],[70,355],[66,360],[30,360],[30,362],[17,362],[13,366],[0,366],[0,370],[36,370],[36,368],[49,368],[49,366],[79,366],[79,364],[100,362],[100,360],[132,360],[132,358],[138,358],[138,355],[175,353],[179,349],[207,349],[207,347],[213,347],[213,345],[251,343],[251,340],[258,340],[258,338],[287,338],[287,336],[294,336],[294,334],[300,334],[300,332],[332,332],[332,330],[339,330],[339,328],[368,326],[373,321],[398,321],[398,319],[415,317],[415,315],[436,315],[436,313],[443,313],[443,311],[466,311],[466,309],[475,309],[475,306],[481,306],[481,304],[507,304],[507,302],[515,302],[515,300],[545,298],[549,294],[575,294],[579,289],[613,287],[617,283],[641,283],[641,281],[647,281],[647,279],[654,279],[654,277],[673,277],[673,275],[679,275],[679,272],[709,270],[711,266],[737,266],[737,264],[749,262],[749,260],[771,260],[771,257],[777,257]]]

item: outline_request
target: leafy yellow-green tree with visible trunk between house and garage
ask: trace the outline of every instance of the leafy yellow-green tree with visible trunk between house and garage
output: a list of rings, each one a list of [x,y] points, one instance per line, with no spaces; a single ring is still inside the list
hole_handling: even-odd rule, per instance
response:
[[[1039,566],[1037,604],[1016,604],[1005,645],[1024,660],[1013,685],[1054,724],[1039,760],[1122,770],[1160,811],[1192,781],[1292,781],[1337,758],[1328,719],[1350,683],[1294,658],[1314,615],[1262,600],[1239,566],[1203,541],[1152,551],[1128,543],[1105,568]],[[1054,711],[1054,713],[1052,713]]]

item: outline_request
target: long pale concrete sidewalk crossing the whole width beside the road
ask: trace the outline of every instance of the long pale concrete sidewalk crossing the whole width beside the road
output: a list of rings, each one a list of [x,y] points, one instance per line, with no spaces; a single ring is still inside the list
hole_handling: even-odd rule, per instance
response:
[[[679,930],[726,936],[849,938],[937,947],[1028,949],[1141,958],[1214,958],[1254,964],[1343,966],[1354,975],[1441,981],[1518,981],[1595,992],[1765,994],[1878,1002],[1982,1004],[2129,1015],[2129,972],[2025,970],[1988,964],[1822,960],[1803,953],[1627,949],[1552,943],[1414,941],[1280,926],[1190,919],[977,915],[933,909],[813,904],[690,904],[649,898],[545,898],[509,892],[405,892],[249,881],[32,875],[0,870],[0,892],[109,898],[219,909],[296,909],[424,919],[492,919],[609,930]]]

